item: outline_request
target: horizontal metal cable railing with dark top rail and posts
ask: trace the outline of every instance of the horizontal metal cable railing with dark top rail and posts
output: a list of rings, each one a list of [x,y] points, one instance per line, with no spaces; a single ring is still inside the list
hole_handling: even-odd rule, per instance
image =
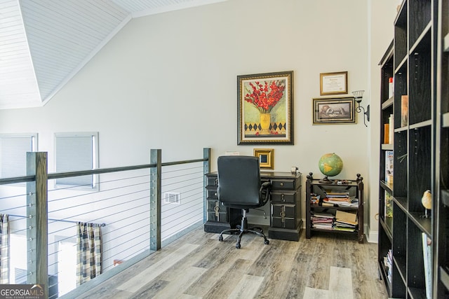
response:
[[[27,249],[22,256],[19,254],[27,265],[16,267],[13,263],[13,271],[25,277],[27,284],[48,283],[48,298],[58,298],[76,288],[76,250],[80,246],[77,223],[100,227],[102,273],[123,270],[203,224],[204,174],[209,169],[209,153],[210,149],[205,148],[203,159],[162,163],[161,151],[152,150],[153,163],[148,165],[44,172],[45,186],[39,185],[39,174],[0,179],[0,214],[10,215],[10,249]],[[95,176],[95,188],[57,184],[62,177],[81,175]],[[47,213],[42,215],[39,210]],[[44,239],[46,249],[37,246]],[[45,257],[41,256],[43,252]],[[42,260],[46,271],[39,273],[35,264]],[[23,283],[15,275],[9,274],[9,278],[11,284]]]

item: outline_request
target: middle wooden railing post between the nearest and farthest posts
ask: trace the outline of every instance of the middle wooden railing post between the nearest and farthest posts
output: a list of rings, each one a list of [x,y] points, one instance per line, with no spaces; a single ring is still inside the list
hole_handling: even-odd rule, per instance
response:
[[[150,181],[151,192],[149,198],[149,249],[161,249],[161,170],[162,170],[162,151],[161,149],[152,149],[150,151],[150,164],[156,164],[151,167]]]

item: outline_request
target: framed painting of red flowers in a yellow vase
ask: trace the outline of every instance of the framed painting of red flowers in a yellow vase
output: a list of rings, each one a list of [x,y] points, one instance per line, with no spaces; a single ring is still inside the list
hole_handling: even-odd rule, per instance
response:
[[[293,71],[237,76],[237,144],[293,144]]]

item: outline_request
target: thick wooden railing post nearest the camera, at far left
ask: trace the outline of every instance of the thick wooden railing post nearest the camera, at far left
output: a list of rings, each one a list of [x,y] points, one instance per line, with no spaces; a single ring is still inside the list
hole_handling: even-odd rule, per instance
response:
[[[47,153],[27,153],[27,283],[44,285],[48,298]]]

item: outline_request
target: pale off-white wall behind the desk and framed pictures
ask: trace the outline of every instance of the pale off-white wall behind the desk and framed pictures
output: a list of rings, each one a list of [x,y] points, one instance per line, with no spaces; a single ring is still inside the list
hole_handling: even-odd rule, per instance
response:
[[[305,180],[309,172],[321,177],[319,158],[335,152],[344,160],[337,178],[362,174],[366,189],[374,186],[366,207],[377,209],[376,64],[392,38],[396,1],[388,2],[229,0],[133,19],[46,106],[0,111],[0,133],[38,132],[50,169],[54,132],[98,131],[100,167],[147,163],[149,148],[173,161],[210,147],[214,170],[225,151],[265,147],[274,148],[276,170],[298,166]],[[290,70],[295,144],[237,146],[236,76]],[[348,71],[349,92],[366,90],[368,128],[361,118],[311,124],[319,74],[333,71]],[[375,211],[366,210],[369,226]]]

